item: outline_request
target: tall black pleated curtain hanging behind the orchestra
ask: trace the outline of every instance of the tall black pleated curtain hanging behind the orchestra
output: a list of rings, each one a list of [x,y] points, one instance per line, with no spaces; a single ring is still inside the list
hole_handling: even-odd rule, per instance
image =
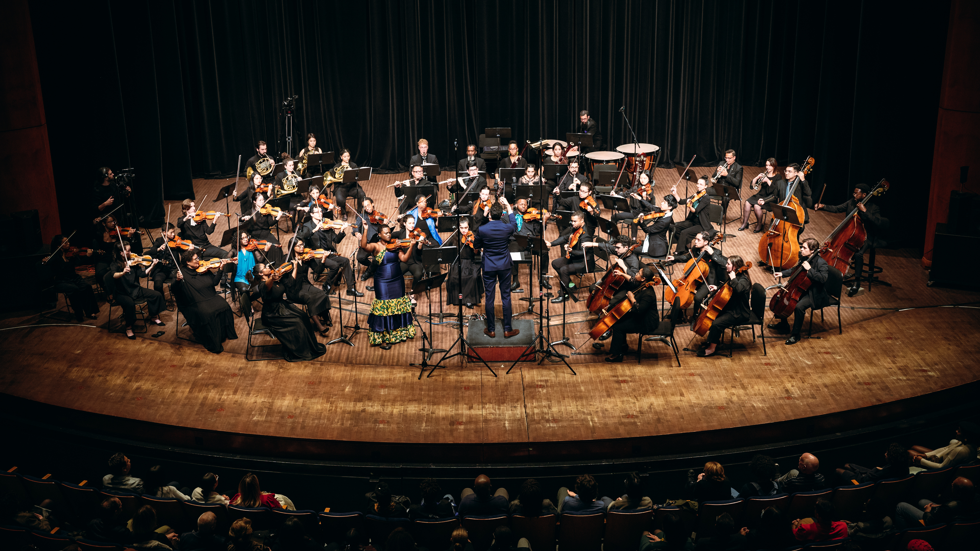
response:
[[[191,174],[233,175],[256,140],[284,151],[279,104],[293,94],[294,154],[312,131],[378,169],[405,165],[419,137],[444,165],[485,126],[561,137],[580,109],[614,147],[632,141],[625,105],[662,166],[727,148],[746,165],[813,155],[824,202],[881,177],[886,203],[921,201],[949,18],[945,2],[882,0],[48,6],[32,15],[56,178],[127,151],[158,201],[190,196]]]

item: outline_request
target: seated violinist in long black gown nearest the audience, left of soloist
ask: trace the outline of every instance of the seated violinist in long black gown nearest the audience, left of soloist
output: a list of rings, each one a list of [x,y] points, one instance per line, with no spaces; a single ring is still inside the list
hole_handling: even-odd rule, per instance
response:
[[[286,361],[307,362],[325,354],[326,346],[317,341],[317,333],[307,315],[282,298],[286,293],[282,275],[273,273],[265,264],[256,265],[255,273],[262,279],[256,285],[257,298],[262,299],[262,324],[282,344]]]

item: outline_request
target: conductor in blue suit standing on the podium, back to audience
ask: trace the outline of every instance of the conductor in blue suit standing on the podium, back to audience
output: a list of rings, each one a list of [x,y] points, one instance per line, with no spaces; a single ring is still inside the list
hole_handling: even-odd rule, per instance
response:
[[[507,209],[507,214],[504,210]],[[490,222],[476,229],[473,246],[483,249],[483,287],[486,289],[487,326],[483,329],[490,338],[497,336],[494,298],[500,281],[500,300],[504,304],[504,338],[520,332],[511,326],[511,236],[517,232],[514,208],[504,197],[490,208]]]

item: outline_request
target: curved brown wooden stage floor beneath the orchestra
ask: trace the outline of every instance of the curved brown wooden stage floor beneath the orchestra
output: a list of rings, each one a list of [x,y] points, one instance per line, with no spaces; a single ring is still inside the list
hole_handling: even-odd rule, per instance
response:
[[[746,168],[747,184],[758,174],[754,171]],[[660,197],[677,176],[662,169],[656,176]],[[368,195],[383,212],[396,210],[391,191],[384,189],[395,178],[375,175],[368,184]],[[213,196],[224,183],[195,180],[195,192]],[[174,212],[178,207],[173,202]],[[734,203],[730,216],[735,216]],[[822,240],[841,216],[811,213],[804,235]],[[728,226],[736,236],[725,243],[725,254],[741,254],[755,263],[759,234],[737,227],[738,222]],[[546,235],[557,237],[554,225]],[[349,255],[355,247],[348,237],[341,249]],[[647,342],[639,365],[629,357],[622,364],[607,364],[604,356],[573,355],[568,362],[577,376],[563,364],[545,361],[518,364],[510,375],[495,365],[495,377],[482,365],[464,365],[457,358],[448,369],[417,380],[418,369],[408,364],[420,359],[419,337],[383,351],[369,346],[367,332],[361,331],[354,347],[328,346],[318,361],[245,362],[244,318],[236,319],[239,338],[213,355],[175,338],[173,312],[162,315],[167,326],[159,338],[150,336],[153,328],[135,341],[109,333],[109,309],[103,305],[91,325],[51,325],[55,322],[31,313],[0,321],[0,357],[7,364],[0,372],[0,392],[79,412],[66,423],[130,436],[140,430],[146,438],[172,445],[344,461],[405,461],[405,450],[417,453],[426,446],[438,450],[426,457],[441,463],[611,459],[667,453],[666,445],[677,453],[679,448],[717,449],[729,441],[780,441],[800,430],[832,432],[908,415],[912,407],[941,405],[980,379],[980,311],[896,310],[980,300],[975,291],[927,287],[918,256],[911,250],[880,250],[882,277],[893,286],[875,285],[869,293],[845,296],[843,334],[837,332],[836,313],[827,309],[826,322],[820,324],[817,315],[813,325],[820,339],[791,347],[783,343],[785,336],[767,334],[767,356],[761,341],[753,342],[745,331],[737,339],[744,348],[736,348],[733,358],[682,352],[680,368],[669,346]],[[751,274],[771,284],[764,271]],[[520,275],[522,288],[531,291],[526,267]],[[358,282],[359,289],[364,286]],[[354,304],[343,292],[344,321],[350,324]],[[517,311],[518,303],[526,303],[516,299],[530,292],[514,296]],[[368,293],[359,301],[361,323],[369,299]],[[432,300],[432,310],[442,310],[438,294]],[[591,326],[583,304],[566,303],[564,327],[579,351],[591,352],[592,341],[580,334]],[[558,340],[562,309],[550,307],[552,340]],[[417,312],[427,311],[426,297],[419,296]],[[448,347],[458,334],[451,325],[433,328],[437,348]],[[184,327],[181,334],[188,332]],[[335,323],[321,340],[338,333]],[[686,326],[678,327],[676,336],[681,347],[696,349],[702,341]],[[635,347],[635,337],[629,344]],[[559,351],[571,349],[560,346]],[[144,430],[147,426],[156,428]],[[734,440],[724,434],[739,436]]]

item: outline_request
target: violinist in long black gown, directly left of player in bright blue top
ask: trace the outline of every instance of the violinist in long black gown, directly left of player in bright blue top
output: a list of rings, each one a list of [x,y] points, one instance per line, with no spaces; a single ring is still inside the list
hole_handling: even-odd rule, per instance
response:
[[[176,280],[173,281],[173,296],[177,308],[187,320],[187,325],[194,331],[194,339],[201,343],[208,352],[221,354],[225,339],[236,339],[235,317],[231,307],[218,292],[215,291],[221,283],[224,272],[234,273],[237,258],[221,260],[221,266],[216,266],[198,272],[201,258],[200,251],[183,251],[178,257],[180,269],[177,270]]]

